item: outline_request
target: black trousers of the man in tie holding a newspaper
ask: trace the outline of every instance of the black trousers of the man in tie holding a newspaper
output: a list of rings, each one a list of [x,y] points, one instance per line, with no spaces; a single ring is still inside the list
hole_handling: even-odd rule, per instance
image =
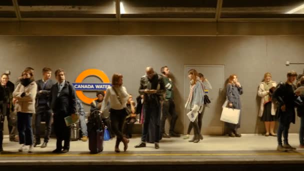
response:
[[[54,132],[56,135],[56,149],[62,149],[62,141],[64,141],[63,149],[69,149],[70,126],[66,126],[64,121],[65,113],[54,113]]]

